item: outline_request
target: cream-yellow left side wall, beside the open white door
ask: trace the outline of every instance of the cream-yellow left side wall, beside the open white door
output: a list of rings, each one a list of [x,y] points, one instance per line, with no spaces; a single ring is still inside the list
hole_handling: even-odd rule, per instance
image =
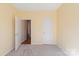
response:
[[[14,48],[14,15],[11,4],[0,4],[0,55]]]

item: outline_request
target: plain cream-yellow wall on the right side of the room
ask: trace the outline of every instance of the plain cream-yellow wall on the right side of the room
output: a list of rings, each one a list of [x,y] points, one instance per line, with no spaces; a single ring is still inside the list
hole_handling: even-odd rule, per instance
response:
[[[79,4],[64,4],[58,9],[57,44],[68,54],[79,55]]]

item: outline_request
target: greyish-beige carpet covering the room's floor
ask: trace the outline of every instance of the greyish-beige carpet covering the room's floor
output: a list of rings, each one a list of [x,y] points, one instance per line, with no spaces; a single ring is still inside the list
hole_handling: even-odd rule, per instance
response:
[[[17,51],[13,50],[6,56],[66,56],[55,45],[21,45]]]

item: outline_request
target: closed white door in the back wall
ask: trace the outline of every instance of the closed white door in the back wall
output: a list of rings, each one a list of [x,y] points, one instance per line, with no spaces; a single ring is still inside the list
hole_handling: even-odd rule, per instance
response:
[[[43,44],[53,44],[53,22],[50,18],[43,19]]]

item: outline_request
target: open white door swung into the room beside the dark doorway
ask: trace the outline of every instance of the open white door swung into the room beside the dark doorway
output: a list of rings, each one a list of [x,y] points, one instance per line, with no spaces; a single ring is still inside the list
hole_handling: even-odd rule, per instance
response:
[[[21,20],[15,17],[15,50],[21,45]]]

